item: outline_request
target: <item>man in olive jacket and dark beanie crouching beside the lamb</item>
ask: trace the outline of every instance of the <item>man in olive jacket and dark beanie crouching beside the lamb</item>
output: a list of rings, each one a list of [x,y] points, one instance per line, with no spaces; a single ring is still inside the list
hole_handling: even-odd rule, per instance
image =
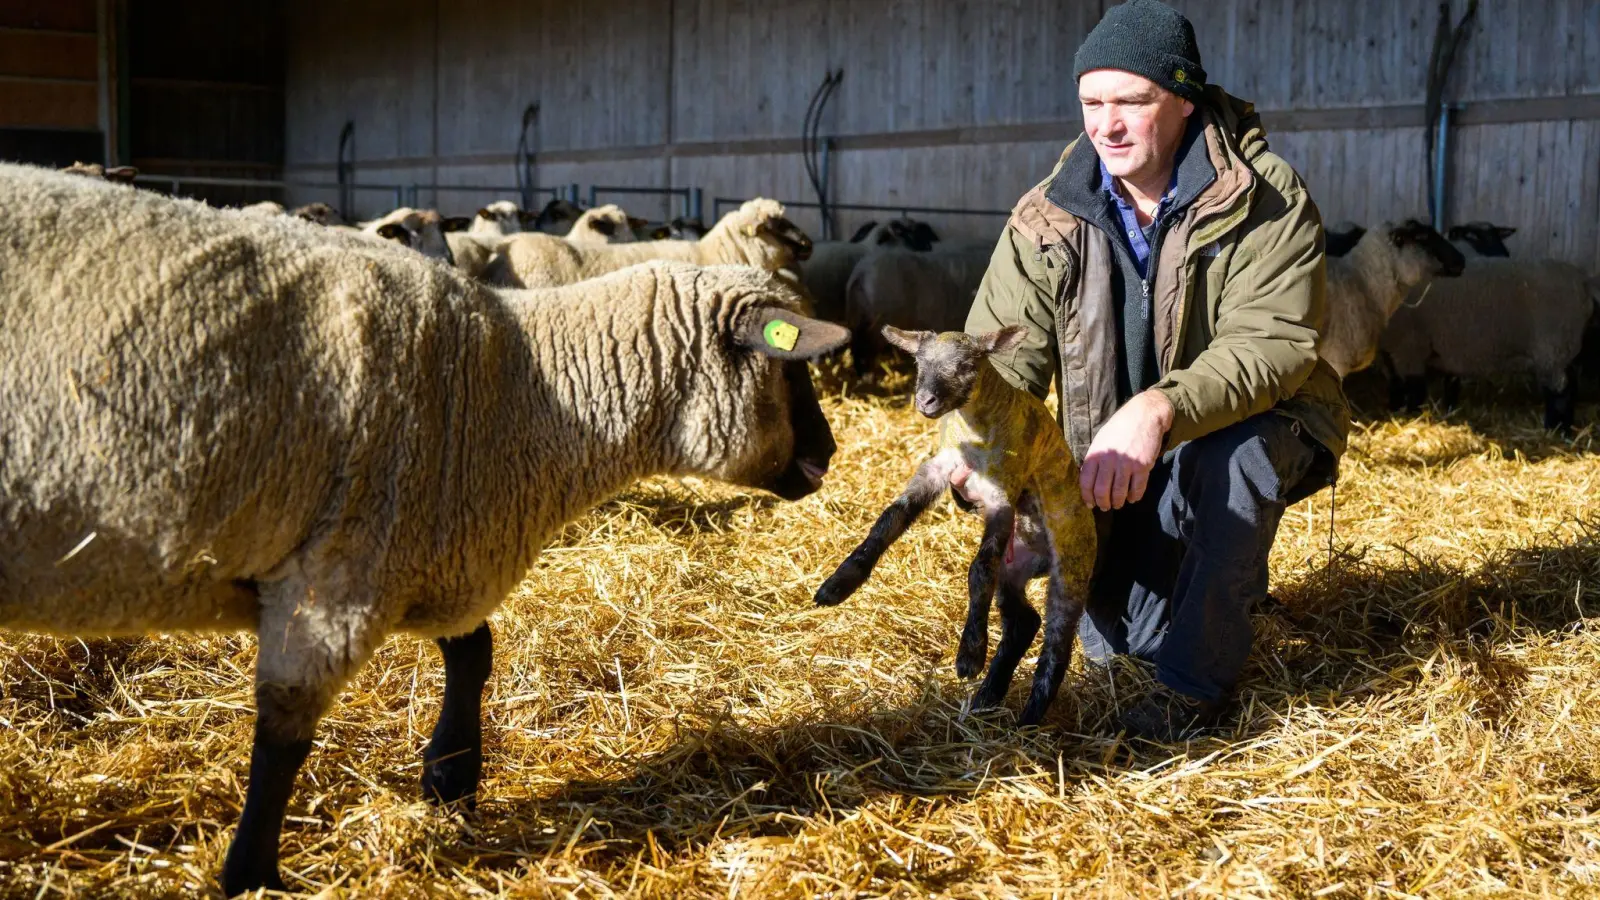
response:
[[[1155,663],[1122,722],[1179,740],[1226,708],[1278,519],[1344,452],[1349,407],[1317,359],[1322,221],[1174,10],[1107,10],[1074,67],[1085,133],[1018,202],[966,330],[1026,325],[995,365],[1038,397],[1056,380],[1102,511],[1078,636],[1091,660]]]

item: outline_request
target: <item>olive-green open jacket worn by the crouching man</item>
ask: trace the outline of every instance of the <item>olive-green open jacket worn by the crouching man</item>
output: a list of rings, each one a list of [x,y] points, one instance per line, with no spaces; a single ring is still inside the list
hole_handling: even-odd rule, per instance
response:
[[[1274,410],[1338,458],[1350,412],[1339,376],[1317,357],[1326,293],[1322,216],[1299,175],[1267,151],[1251,104],[1210,86],[1195,115],[1205,117],[1216,178],[1154,259],[1155,389],[1174,410],[1166,448]],[[1110,240],[1048,197],[1080,141],[1018,200],[966,330],[1027,327],[1014,351],[992,360],[1038,397],[1056,380],[1061,428],[1082,463],[1117,410],[1120,343]],[[1085,144],[1083,152],[1093,151]]]

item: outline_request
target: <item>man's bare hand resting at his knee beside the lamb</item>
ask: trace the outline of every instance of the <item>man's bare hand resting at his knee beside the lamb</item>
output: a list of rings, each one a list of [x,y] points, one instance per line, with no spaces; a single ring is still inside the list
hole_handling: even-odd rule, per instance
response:
[[[1083,456],[1078,492],[1086,506],[1122,509],[1138,503],[1150,484],[1150,469],[1173,424],[1173,402],[1160,391],[1146,391],[1117,410]]]

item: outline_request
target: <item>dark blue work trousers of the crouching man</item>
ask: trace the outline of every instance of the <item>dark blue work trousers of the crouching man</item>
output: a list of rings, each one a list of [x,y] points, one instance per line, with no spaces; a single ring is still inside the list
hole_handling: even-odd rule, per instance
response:
[[[1102,522],[1099,567],[1078,637],[1090,660],[1130,653],[1166,687],[1232,692],[1250,657],[1250,610],[1288,501],[1331,455],[1293,420],[1262,413],[1162,456],[1139,503]],[[1328,472],[1322,472],[1325,484]]]

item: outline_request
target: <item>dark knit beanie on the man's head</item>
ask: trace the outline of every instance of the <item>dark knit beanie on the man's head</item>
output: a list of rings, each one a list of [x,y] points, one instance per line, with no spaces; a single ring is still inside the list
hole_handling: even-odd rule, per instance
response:
[[[1106,10],[1083,46],[1072,58],[1074,78],[1091,69],[1122,69],[1198,101],[1205,88],[1195,29],[1178,10],[1160,0],[1128,0]]]

